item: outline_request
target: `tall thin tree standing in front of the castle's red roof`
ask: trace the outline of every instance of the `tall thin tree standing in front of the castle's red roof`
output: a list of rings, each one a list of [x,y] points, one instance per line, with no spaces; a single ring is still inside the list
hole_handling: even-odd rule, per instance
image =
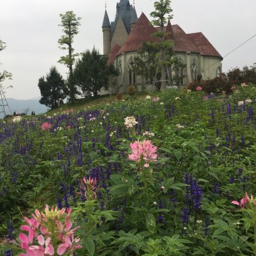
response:
[[[151,16],[153,18],[152,24],[154,26],[159,26],[160,31],[154,33],[155,37],[160,38],[160,42],[158,43],[158,47],[160,50],[160,65],[161,65],[161,90],[166,90],[166,64],[170,61],[170,57],[166,57],[167,53],[171,52],[173,42],[172,40],[166,40],[167,34],[164,31],[165,24],[168,20],[172,19],[172,9],[171,9],[171,1],[170,0],[160,0],[154,2],[155,11],[151,12]],[[169,59],[169,60],[166,60]]]

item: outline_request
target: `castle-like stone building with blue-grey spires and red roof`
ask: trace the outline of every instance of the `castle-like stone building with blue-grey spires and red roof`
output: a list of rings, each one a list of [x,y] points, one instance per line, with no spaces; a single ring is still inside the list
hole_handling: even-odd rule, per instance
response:
[[[152,81],[136,76],[132,65],[143,42],[157,40],[151,37],[157,30],[159,27],[152,26],[144,13],[137,17],[135,6],[129,0],[120,0],[116,4],[115,21],[112,23],[105,10],[102,23],[103,53],[108,55],[108,64],[114,64],[119,70],[115,93],[126,93],[129,85],[135,85],[138,91],[151,90]],[[171,25],[170,21],[165,31],[169,34],[168,39],[174,40],[175,55],[186,66],[170,71],[172,76],[180,76],[180,85],[188,85],[198,75],[206,80],[221,73],[222,57],[201,32],[186,34],[179,25]]]

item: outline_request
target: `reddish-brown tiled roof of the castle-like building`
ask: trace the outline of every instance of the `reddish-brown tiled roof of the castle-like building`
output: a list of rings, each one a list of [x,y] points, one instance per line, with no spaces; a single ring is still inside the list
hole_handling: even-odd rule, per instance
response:
[[[141,13],[140,18],[138,18],[137,23],[135,23],[132,31],[130,32],[127,40],[118,49],[118,52],[110,52],[108,62],[112,62],[115,56],[123,54],[124,52],[137,51],[144,41],[158,41],[158,38],[151,37],[151,34],[160,30],[160,27],[154,27],[144,15]],[[179,25],[171,25],[168,21],[165,27],[165,32],[170,32],[168,39],[174,40],[174,51],[175,52],[196,52],[202,55],[219,57],[222,59],[218,51],[213,47],[213,45],[207,40],[207,38],[201,33],[186,34]],[[114,52],[116,54],[114,55]]]

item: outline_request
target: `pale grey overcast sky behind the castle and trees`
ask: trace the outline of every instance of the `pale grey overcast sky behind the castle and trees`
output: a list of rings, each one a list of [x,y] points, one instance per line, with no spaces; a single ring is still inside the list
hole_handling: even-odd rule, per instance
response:
[[[107,0],[110,21],[115,19],[116,2]],[[138,16],[144,12],[150,19],[153,4],[153,0],[136,0]],[[172,0],[172,9],[172,24],[179,24],[187,33],[202,32],[222,56],[256,34],[255,0]],[[13,73],[13,88],[6,91],[7,98],[40,96],[38,79],[52,65],[66,77],[68,69],[57,63],[66,52],[58,48],[57,41],[62,35],[59,14],[68,10],[82,18],[74,38],[75,51],[95,46],[102,52],[104,0],[1,0],[0,38],[7,48],[0,53],[0,69]],[[226,57],[222,68],[226,71],[255,62],[256,37]]]

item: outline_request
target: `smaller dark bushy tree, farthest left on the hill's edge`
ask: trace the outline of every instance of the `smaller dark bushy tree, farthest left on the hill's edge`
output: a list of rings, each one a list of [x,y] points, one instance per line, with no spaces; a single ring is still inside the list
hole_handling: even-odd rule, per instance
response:
[[[64,85],[65,82],[57,68],[52,66],[49,74],[38,80],[38,87],[41,92],[39,102],[50,108],[58,107],[60,102],[65,99],[65,94],[63,93]]]

